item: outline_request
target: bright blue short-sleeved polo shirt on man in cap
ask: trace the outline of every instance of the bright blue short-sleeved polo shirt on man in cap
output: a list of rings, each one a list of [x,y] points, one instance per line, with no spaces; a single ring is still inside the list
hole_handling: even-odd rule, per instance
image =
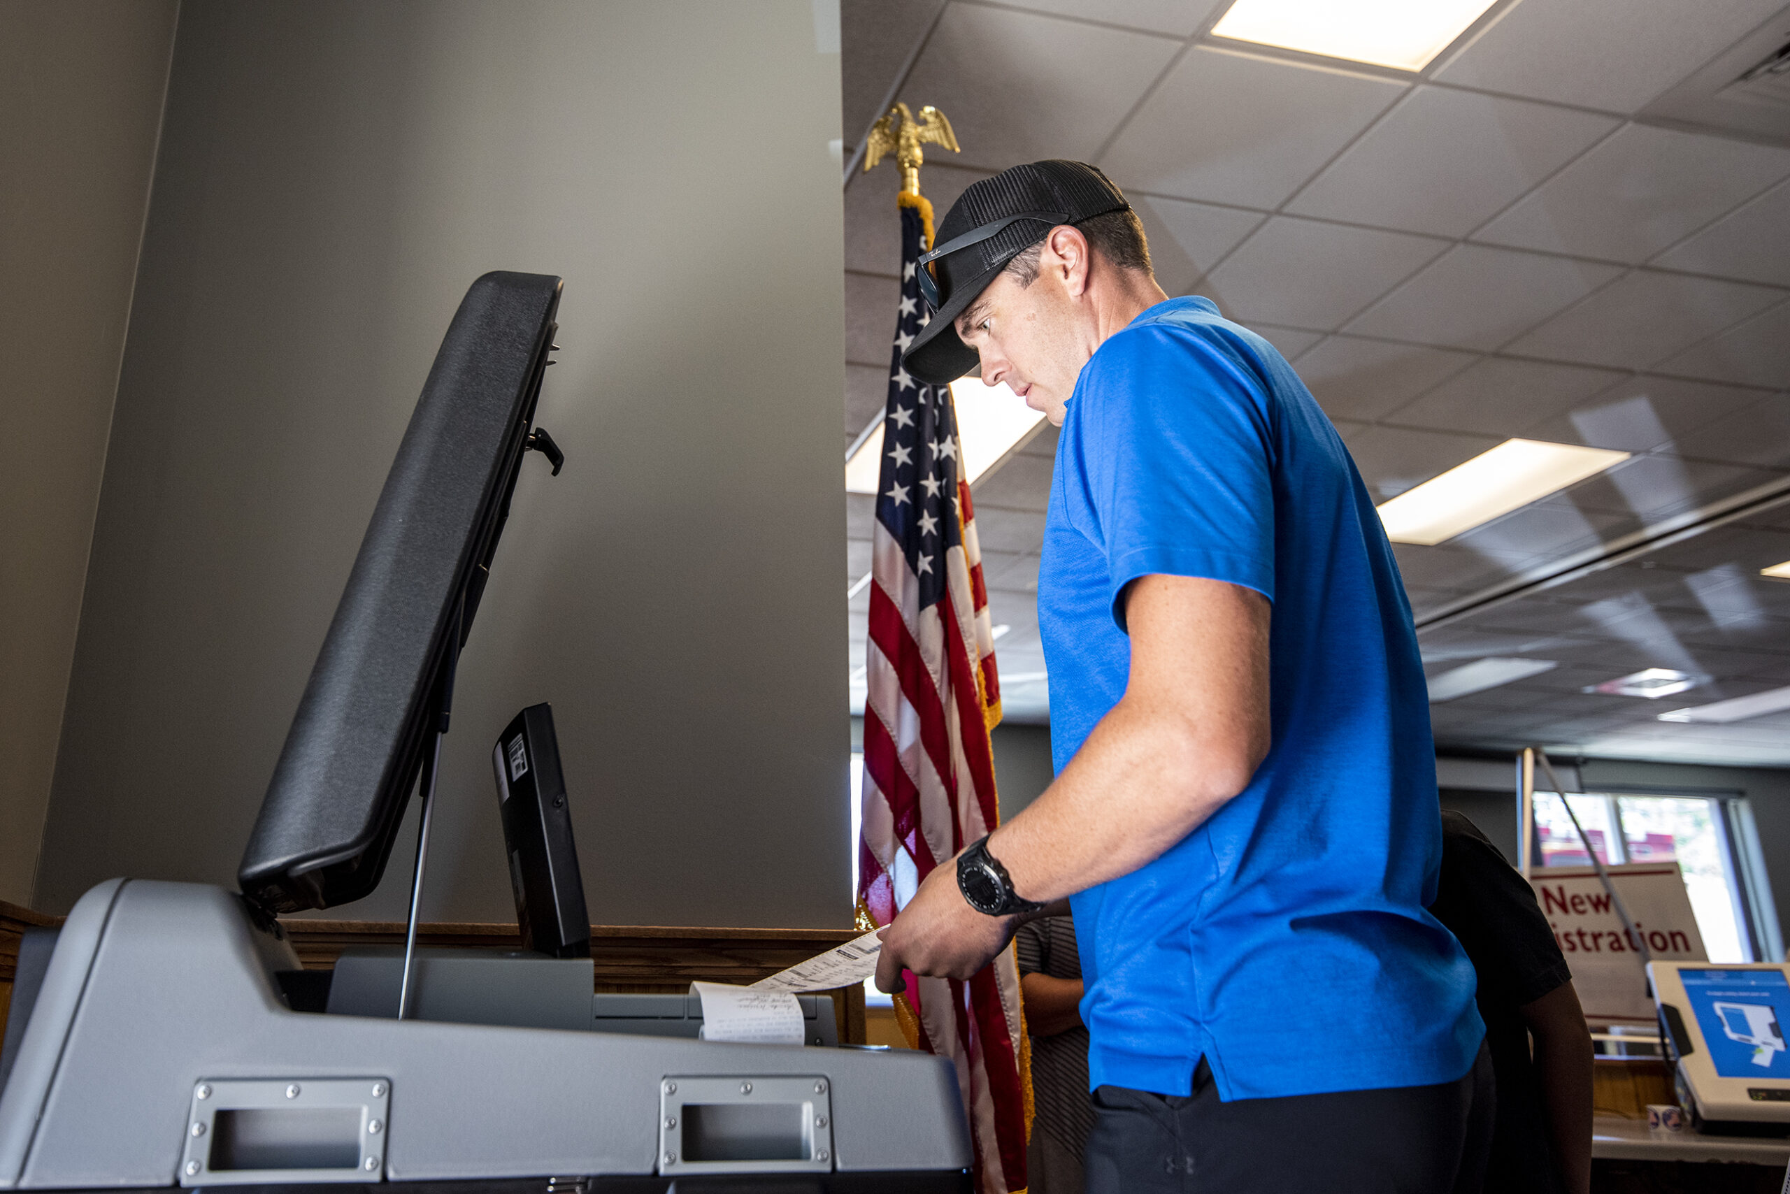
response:
[[[1335,428],[1262,337],[1171,299],[1081,371],[1038,573],[1056,770],[1124,695],[1151,573],[1273,601],[1273,745],[1156,861],[1072,899],[1088,1083],[1221,1099],[1459,1079],[1473,965],[1425,908],[1441,814],[1411,607]]]

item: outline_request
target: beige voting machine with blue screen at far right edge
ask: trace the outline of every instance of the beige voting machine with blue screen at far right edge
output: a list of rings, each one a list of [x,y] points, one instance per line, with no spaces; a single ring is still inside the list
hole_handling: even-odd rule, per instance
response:
[[[1790,967],[1650,961],[1659,1040],[1699,1131],[1790,1135]]]

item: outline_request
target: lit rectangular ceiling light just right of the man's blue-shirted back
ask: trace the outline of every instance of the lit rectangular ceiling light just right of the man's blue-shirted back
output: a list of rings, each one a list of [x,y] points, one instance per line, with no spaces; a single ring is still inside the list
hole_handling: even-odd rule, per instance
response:
[[[1504,440],[1380,505],[1385,537],[1423,546],[1453,539],[1629,458],[1625,451]]]

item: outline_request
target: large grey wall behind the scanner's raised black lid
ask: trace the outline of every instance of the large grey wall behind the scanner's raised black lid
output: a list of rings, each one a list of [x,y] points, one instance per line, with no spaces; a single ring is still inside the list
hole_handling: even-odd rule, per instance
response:
[[[591,913],[848,924],[836,32],[809,0],[188,0],[36,899],[233,884],[430,360],[566,277],[424,915],[512,915],[553,702]],[[834,25],[836,29],[836,25]],[[412,816],[415,804],[412,804]],[[369,900],[403,909],[410,838]]]

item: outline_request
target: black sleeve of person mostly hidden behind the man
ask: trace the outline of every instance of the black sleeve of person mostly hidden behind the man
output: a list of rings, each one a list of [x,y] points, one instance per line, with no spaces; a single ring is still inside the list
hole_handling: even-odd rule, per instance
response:
[[[1572,979],[1536,891],[1464,818],[1443,818],[1443,868],[1432,911],[1461,940],[1482,995],[1522,1008]],[[1471,822],[1466,822],[1471,825]]]

